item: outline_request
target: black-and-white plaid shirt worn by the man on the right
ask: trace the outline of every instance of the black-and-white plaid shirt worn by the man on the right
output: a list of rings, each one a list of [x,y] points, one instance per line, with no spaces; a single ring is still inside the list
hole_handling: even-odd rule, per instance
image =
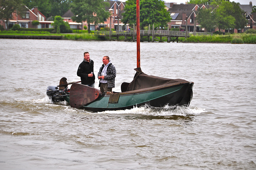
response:
[[[100,71],[98,72],[98,76],[101,76],[101,72],[103,70],[104,64],[100,67]],[[110,63],[107,68],[107,75],[105,75],[104,79],[108,82],[108,88],[114,88],[115,87],[115,77],[116,77],[116,67]],[[100,84],[99,84],[100,87]]]

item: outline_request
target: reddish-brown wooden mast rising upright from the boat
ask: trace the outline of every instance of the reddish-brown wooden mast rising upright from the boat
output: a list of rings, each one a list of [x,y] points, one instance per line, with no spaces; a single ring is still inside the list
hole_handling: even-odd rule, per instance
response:
[[[136,1],[136,28],[137,28],[137,68],[140,67],[140,0]]]

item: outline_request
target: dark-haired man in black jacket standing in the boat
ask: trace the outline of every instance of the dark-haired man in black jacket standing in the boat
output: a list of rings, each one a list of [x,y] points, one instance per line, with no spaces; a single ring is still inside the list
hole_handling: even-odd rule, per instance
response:
[[[94,88],[95,75],[93,73],[94,62],[90,59],[89,52],[84,52],[84,60],[80,63],[77,75],[81,77],[81,84]]]

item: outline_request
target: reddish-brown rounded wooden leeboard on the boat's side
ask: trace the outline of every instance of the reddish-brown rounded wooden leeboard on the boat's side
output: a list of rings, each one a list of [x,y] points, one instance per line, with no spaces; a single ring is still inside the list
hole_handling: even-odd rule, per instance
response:
[[[87,103],[91,103],[98,99],[101,95],[99,89],[95,89],[86,85],[73,83],[70,87],[70,106],[74,108],[80,108]]]

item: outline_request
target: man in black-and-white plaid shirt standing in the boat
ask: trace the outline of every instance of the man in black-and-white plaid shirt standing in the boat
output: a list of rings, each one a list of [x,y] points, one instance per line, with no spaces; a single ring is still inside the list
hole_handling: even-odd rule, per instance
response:
[[[115,87],[116,67],[111,63],[108,56],[104,56],[102,62],[98,79],[100,80],[100,92],[106,94],[107,91],[112,92],[112,88]]]

